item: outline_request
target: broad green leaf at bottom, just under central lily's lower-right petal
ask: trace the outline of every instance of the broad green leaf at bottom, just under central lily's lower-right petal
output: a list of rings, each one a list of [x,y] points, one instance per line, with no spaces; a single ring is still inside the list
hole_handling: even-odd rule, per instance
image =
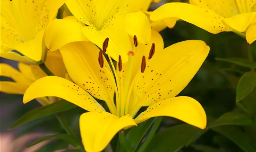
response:
[[[176,152],[201,129],[189,124],[176,125],[157,133],[145,151]]]

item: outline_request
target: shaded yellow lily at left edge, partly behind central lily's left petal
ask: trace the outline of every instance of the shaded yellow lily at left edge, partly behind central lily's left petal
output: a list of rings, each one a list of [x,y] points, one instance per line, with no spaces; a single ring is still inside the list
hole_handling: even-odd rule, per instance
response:
[[[59,51],[49,52],[45,64],[57,76],[67,78],[67,71]],[[38,65],[18,63],[19,70],[4,63],[0,63],[0,76],[11,78],[13,81],[0,81],[0,92],[23,95],[27,88],[37,79],[47,75]],[[48,105],[56,98],[36,98],[41,105]]]

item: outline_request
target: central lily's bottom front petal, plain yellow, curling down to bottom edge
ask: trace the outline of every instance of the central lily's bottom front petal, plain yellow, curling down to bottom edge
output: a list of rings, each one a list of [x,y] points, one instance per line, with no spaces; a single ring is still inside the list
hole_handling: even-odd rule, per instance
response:
[[[102,151],[119,130],[137,126],[129,115],[120,118],[108,112],[86,112],[80,116],[80,134],[87,152]]]

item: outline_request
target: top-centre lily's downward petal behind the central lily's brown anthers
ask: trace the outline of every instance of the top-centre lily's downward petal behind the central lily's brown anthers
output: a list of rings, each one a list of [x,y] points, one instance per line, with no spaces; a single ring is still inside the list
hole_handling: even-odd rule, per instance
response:
[[[101,30],[91,26],[84,26],[82,27],[82,31],[92,43],[101,49],[104,40],[108,37],[109,41],[106,53],[116,61],[119,55],[121,55],[122,61],[125,63],[128,60],[127,53],[131,50],[131,44],[128,33],[126,32],[124,19],[119,17],[112,24]]]

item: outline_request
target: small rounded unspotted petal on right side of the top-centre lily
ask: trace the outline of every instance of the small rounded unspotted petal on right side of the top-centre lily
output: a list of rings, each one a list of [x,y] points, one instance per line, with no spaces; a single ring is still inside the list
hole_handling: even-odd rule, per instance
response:
[[[148,17],[143,12],[126,14],[125,26],[130,36],[136,35],[140,43],[148,44],[151,36],[151,27]]]

